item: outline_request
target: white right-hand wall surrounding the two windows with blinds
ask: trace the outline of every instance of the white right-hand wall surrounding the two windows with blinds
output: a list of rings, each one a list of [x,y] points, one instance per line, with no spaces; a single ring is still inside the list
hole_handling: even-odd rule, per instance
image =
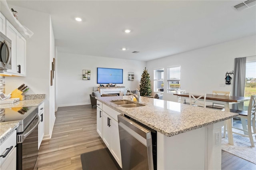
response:
[[[147,62],[152,85],[154,69],[164,68],[164,100],[177,101],[176,96],[168,94],[167,67],[181,66],[181,89],[186,92],[212,93],[213,90],[231,91],[231,85],[225,84],[225,74],[234,70],[234,58],[256,55],[256,36],[224,42],[193,51],[171,55]],[[233,77],[231,75],[231,77]],[[152,87],[153,89],[153,87]]]

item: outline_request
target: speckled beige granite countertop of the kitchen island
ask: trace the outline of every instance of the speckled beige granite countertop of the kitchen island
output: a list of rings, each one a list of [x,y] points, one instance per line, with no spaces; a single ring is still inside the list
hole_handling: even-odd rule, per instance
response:
[[[145,105],[142,107],[126,108],[110,102],[128,98],[128,96],[97,97],[97,100],[166,136],[174,136],[238,116],[236,113],[149,97],[141,97],[140,103]]]

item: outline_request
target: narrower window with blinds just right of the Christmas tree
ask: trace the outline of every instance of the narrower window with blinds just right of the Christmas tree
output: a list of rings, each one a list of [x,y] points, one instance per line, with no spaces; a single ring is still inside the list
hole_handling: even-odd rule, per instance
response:
[[[154,92],[164,91],[164,68],[154,69]]]

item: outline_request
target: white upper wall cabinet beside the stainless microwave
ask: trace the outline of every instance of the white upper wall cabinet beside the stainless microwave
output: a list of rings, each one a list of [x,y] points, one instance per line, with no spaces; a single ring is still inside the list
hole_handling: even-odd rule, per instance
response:
[[[4,73],[26,76],[26,40],[8,20],[6,20],[6,36],[12,41],[12,69],[5,70]]]

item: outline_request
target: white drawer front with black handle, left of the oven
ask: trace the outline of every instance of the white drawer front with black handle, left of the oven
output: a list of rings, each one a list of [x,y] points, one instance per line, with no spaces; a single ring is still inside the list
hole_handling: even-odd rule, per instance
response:
[[[16,146],[16,130],[1,144],[0,155],[5,154],[8,150],[7,148],[10,148],[11,146],[12,146],[12,149],[6,155],[6,157],[5,158],[3,158],[2,156],[0,157],[0,165],[2,165],[5,162],[5,160],[8,158],[8,156],[10,156],[12,150],[14,150]]]

